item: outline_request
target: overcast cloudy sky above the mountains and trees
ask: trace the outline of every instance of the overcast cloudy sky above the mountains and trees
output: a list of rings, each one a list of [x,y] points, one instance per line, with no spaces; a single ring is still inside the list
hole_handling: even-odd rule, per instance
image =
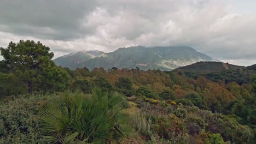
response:
[[[0,1],[0,47],[31,39],[56,58],[80,50],[183,45],[223,62],[256,63],[255,0]]]

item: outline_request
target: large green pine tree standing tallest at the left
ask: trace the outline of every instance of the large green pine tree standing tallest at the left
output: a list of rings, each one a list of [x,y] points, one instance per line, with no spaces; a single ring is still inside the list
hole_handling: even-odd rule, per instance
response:
[[[54,53],[48,46],[39,41],[20,40],[19,43],[11,41],[7,48],[1,47],[0,50],[4,62],[10,65],[11,73],[26,83],[28,93],[32,93],[36,85],[47,89],[66,87],[69,80],[67,71],[56,67],[51,61]]]

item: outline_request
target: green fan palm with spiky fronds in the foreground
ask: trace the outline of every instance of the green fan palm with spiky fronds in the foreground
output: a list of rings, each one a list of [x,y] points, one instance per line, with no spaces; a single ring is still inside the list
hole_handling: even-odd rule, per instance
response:
[[[124,98],[118,93],[65,91],[51,98],[39,112],[42,131],[55,143],[120,143],[132,134]]]

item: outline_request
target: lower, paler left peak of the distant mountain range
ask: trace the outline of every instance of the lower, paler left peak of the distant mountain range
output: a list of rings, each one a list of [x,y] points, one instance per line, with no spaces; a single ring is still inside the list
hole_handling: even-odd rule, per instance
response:
[[[61,67],[67,67],[69,69],[76,69],[77,65],[81,62],[87,61],[88,59],[95,58],[102,55],[102,51],[78,51],[69,53],[68,55],[58,57],[54,59],[56,65]]]

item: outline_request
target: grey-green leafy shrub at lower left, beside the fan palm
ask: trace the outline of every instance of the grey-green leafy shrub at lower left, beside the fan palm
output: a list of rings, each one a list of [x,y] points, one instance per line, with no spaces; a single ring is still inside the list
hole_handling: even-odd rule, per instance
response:
[[[46,143],[39,130],[42,95],[8,97],[0,102],[0,143]]]

